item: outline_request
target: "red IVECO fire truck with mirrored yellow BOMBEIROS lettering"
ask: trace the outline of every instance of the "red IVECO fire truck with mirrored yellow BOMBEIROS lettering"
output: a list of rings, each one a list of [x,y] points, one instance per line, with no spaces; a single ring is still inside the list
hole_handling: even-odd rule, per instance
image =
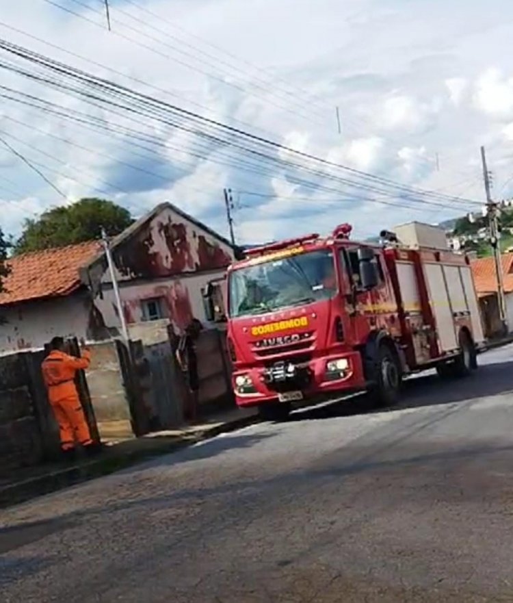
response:
[[[382,244],[351,230],[254,248],[228,268],[237,405],[282,419],[292,405],[363,390],[386,405],[408,374],[477,368],[484,335],[466,256],[427,224],[384,231]],[[212,313],[211,287],[205,301]]]

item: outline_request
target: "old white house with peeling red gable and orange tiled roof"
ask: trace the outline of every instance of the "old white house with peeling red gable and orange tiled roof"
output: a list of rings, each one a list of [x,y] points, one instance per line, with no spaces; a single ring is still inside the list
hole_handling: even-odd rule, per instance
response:
[[[202,288],[224,277],[231,244],[170,203],[111,242],[124,316],[133,339],[165,337],[205,321]],[[120,333],[107,260],[99,242],[14,257],[0,294],[0,352],[39,348],[54,335],[102,340]]]

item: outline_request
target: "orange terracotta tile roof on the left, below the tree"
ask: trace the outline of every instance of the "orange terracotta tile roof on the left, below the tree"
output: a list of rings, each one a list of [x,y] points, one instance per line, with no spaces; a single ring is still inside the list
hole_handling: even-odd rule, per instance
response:
[[[79,268],[100,250],[98,241],[89,241],[12,257],[0,305],[70,294],[81,285]]]

